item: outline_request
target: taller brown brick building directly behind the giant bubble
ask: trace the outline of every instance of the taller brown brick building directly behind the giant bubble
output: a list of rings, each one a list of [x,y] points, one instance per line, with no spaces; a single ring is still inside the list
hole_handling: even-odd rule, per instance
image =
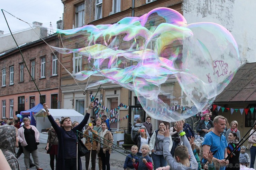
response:
[[[82,27],[84,25],[99,25],[99,24],[113,24],[118,22],[124,17],[139,17],[143,14],[153,10],[157,7],[172,8],[181,14],[182,0],[62,0],[64,4],[63,14],[63,29],[73,29]],[[153,16],[154,17],[154,16]],[[161,23],[161,22],[159,22]],[[159,23],[155,23],[157,26]],[[149,29],[149,28],[148,28]],[[65,48],[74,49],[86,47],[86,36],[81,34],[74,34],[69,36],[62,35],[62,43]],[[77,68],[86,69],[89,68],[88,57],[78,56],[75,53],[60,54],[61,63],[71,73],[76,73],[79,70]],[[77,61],[82,61],[78,66]],[[127,62],[128,65],[130,62]],[[133,63],[130,63],[133,64]],[[98,77],[90,77],[89,82],[98,80]],[[79,84],[79,86],[77,86]],[[90,103],[90,93],[94,96],[98,91],[98,87],[92,87],[85,89],[87,80],[75,82],[72,77],[61,69],[61,108],[75,109],[80,113],[84,113]],[[170,95],[181,96],[181,88],[176,80],[172,80],[170,83]],[[120,127],[130,126],[129,122],[133,124],[134,114],[139,114],[141,120],[144,122],[147,116],[146,112],[141,109],[139,101],[134,92],[129,91],[117,84],[102,84],[97,96],[95,97],[100,103],[109,108],[114,109],[119,103],[123,103],[128,106],[138,107],[138,109],[132,109],[129,112],[128,109],[121,107],[119,111],[118,119],[124,118],[129,115],[129,119],[122,119],[119,122],[112,123],[112,129],[118,129]],[[171,99],[165,99],[167,103],[171,104]],[[180,99],[176,99],[180,100]],[[109,113],[104,112],[110,117]],[[157,120],[153,119],[153,129],[158,129]],[[127,129],[127,128],[126,128]]]

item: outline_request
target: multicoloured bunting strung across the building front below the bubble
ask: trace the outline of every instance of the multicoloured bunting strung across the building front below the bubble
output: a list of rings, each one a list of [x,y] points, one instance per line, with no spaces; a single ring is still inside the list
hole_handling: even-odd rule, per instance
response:
[[[93,95],[90,95],[90,99],[94,99]],[[125,119],[128,119],[129,117],[129,114],[126,115],[125,117],[122,117],[122,118],[118,118],[118,110],[120,110],[121,107],[124,107],[126,109],[129,108],[129,106],[123,104],[123,103],[120,103],[116,108],[114,109],[109,109],[107,107],[105,107],[103,104],[101,104],[97,99],[94,100],[94,113],[97,117],[101,117],[104,115],[104,112],[107,112],[107,113],[110,113],[110,116],[109,116],[109,119],[111,122],[119,122],[121,120],[125,120]],[[102,108],[102,110],[100,109]]]

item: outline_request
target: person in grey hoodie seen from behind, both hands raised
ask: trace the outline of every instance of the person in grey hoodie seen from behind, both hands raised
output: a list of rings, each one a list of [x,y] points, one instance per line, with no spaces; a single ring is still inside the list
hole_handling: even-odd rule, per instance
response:
[[[183,122],[178,121],[176,122],[177,129],[175,129],[177,132],[179,132],[181,136],[181,140],[183,142],[183,146],[179,146],[174,151],[174,156],[176,160],[173,158],[172,154],[168,149],[164,149],[164,159],[167,161],[168,165],[171,167],[172,170],[197,170],[198,169],[198,163],[196,162],[195,156],[193,154],[193,151],[191,149],[189,140],[185,136],[185,132],[183,132]],[[164,127],[164,147],[168,148],[170,145],[170,132],[169,127]],[[182,152],[180,151],[182,150]]]

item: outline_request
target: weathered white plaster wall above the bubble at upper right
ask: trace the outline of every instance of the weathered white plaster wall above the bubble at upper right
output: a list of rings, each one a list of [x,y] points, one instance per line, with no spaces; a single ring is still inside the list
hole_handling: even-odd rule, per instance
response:
[[[184,0],[183,16],[188,23],[214,22],[234,36],[242,60],[256,62],[255,0]]]

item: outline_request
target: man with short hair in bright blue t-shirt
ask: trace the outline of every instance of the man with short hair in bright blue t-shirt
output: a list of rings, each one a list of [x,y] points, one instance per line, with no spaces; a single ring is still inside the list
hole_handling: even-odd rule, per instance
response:
[[[223,116],[216,116],[213,120],[213,130],[204,136],[203,155],[207,155],[208,152],[213,153],[213,161],[220,164],[220,170],[225,170],[225,166],[228,164],[227,158],[227,140],[225,136],[221,135],[225,129],[226,121]],[[202,162],[205,164],[207,160],[203,159]],[[217,164],[215,164],[215,167]]]

